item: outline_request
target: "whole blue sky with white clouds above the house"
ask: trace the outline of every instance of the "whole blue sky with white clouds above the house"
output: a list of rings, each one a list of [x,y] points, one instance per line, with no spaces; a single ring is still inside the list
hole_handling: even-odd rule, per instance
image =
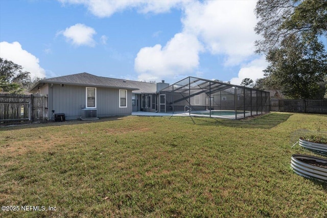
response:
[[[33,77],[262,78],[256,1],[0,1],[0,56]]]

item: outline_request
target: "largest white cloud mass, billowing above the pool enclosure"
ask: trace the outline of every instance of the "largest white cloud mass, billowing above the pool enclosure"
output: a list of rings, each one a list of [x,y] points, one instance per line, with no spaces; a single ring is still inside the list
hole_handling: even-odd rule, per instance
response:
[[[135,59],[135,70],[143,78],[162,77],[188,71],[194,73],[199,65],[199,52],[224,55],[224,65],[246,63],[254,52],[256,23],[255,1],[205,1],[183,4],[183,30],[164,48],[144,47]],[[194,40],[177,40],[177,36]],[[184,49],[172,42],[182,43]],[[202,44],[203,46],[198,46]],[[183,58],[181,58],[183,57]],[[175,62],[178,62],[176,64]],[[178,67],[177,67],[178,66]],[[245,69],[242,69],[242,71]]]

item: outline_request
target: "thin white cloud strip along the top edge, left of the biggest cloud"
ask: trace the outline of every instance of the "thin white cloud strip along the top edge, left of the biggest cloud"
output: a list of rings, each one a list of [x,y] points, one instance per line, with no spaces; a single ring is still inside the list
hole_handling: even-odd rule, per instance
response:
[[[135,8],[139,13],[165,13],[173,7],[180,7],[187,1],[183,0],[121,0],[121,1],[94,1],[94,0],[58,0],[63,5],[84,5],[89,12],[98,17],[110,17],[116,12]]]

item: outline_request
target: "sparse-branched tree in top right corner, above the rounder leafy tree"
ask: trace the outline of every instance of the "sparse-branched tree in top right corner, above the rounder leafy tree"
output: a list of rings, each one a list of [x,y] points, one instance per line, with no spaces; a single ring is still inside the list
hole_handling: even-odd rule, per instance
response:
[[[291,35],[307,44],[326,34],[325,0],[259,0],[254,12],[259,20],[254,31],[263,36],[255,42],[258,53],[267,54]]]

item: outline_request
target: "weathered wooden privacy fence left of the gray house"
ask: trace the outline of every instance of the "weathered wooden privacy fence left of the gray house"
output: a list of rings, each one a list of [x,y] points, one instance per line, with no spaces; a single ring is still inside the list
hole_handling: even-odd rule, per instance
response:
[[[48,120],[48,95],[0,94],[0,125]]]

